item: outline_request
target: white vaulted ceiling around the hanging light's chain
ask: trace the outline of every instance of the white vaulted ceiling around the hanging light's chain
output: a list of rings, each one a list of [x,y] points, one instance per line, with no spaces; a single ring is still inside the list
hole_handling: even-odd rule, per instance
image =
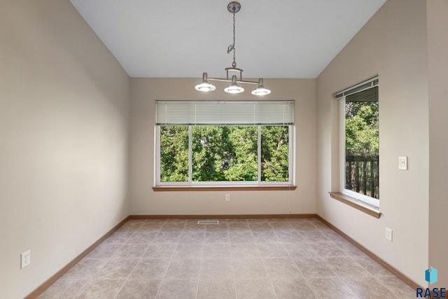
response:
[[[229,0],[70,0],[132,77],[224,77]],[[241,0],[244,78],[316,78],[386,0]]]

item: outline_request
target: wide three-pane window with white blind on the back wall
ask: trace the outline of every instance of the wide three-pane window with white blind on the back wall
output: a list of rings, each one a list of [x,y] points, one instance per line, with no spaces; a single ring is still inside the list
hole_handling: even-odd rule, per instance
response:
[[[157,101],[156,185],[290,184],[293,101]]]

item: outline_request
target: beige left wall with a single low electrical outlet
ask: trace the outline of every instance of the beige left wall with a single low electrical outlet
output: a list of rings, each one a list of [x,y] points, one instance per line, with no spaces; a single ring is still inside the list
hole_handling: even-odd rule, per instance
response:
[[[0,298],[23,298],[129,214],[129,79],[69,1],[2,0],[0,40]]]

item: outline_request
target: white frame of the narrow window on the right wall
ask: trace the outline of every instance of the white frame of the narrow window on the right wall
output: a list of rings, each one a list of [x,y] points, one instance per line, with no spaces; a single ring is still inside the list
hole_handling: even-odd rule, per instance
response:
[[[363,86],[367,83],[378,81],[378,76],[371,78],[370,80],[363,81],[357,85],[354,85],[352,88],[348,88],[342,92],[337,92],[337,100],[339,101],[339,190],[343,195],[347,195],[352,197],[354,200],[359,200],[366,204],[373,206],[376,209],[379,209],[379,199],[370,197],[367,195],[363,195],[361,193],[357,193],[356,191],[349,190],[345,188],[345,175],[346,175],[346,146],[345,146],[345,103],[346,103],[346,95],[344,94],[348,90],[352,90],[357,88],[358,86]],[[374,86],[379,86],[377,83]],[[373,88],[372,86],[371,88]],[[378,99],[379,102],[379,99]]]

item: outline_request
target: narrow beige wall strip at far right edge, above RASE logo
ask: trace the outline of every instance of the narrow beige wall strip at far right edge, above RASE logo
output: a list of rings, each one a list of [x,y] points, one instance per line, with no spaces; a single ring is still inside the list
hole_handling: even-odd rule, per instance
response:
[[[448,1],[428,2],[429,65],[429,265],[439,270],[433,286],[448,286]]]

